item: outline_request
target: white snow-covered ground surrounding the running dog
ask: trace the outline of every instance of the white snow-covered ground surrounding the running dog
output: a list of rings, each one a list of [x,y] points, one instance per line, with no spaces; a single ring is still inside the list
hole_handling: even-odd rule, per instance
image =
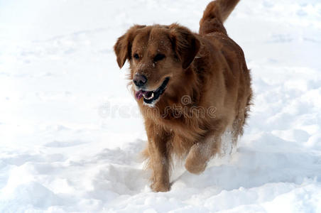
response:
[[[133,23],[197,31],[209,1],[0,0],[0,212],[321,212],[321,2],[243,0],[255,92],[239,148],[151,192],[112,50]]]

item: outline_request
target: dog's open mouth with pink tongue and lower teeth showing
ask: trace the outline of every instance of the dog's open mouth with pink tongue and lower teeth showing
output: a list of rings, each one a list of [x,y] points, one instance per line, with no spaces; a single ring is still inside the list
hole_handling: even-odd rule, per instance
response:
[[[166,77],[163,83],[160,85],[160,87],[158,87],[156,90],[153,90],[153,91],[146,91],[142,89],[138,90],[135,93],[136,99],[139,100],[141,99],[141,97],[143,97],[143,102],[145,102],[146,104],[155,103],[156,101],[158,101],[160,95],[163,94],[163,92],[165,91],[169,80],[170,78]]]

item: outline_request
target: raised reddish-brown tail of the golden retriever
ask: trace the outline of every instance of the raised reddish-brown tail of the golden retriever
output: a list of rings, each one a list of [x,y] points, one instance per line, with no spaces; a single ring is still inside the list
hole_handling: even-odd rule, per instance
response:
[[[232,13],[239,0],[216,0],[207,5],[200,20],[200,34],[222,32],[227,33],[223,23]]]

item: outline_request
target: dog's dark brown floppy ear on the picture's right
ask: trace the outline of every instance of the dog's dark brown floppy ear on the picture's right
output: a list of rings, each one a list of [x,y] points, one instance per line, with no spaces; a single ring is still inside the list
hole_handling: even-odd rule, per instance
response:
[[[183,69],[187,69],[190,63],[194,60],[198,50],[200,50],[200,41],[193,35],[193,33],[176,23],[169,26],[170,40],[175,53],[182,62]]]

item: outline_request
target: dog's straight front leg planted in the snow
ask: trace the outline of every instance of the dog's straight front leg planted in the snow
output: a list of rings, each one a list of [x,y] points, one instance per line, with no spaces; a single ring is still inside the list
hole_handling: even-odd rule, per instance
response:
[[[168,136],[162,129],[155,129],[148,133],[148,153],[152,169],[151,189],[154,192],[170,190]]]

